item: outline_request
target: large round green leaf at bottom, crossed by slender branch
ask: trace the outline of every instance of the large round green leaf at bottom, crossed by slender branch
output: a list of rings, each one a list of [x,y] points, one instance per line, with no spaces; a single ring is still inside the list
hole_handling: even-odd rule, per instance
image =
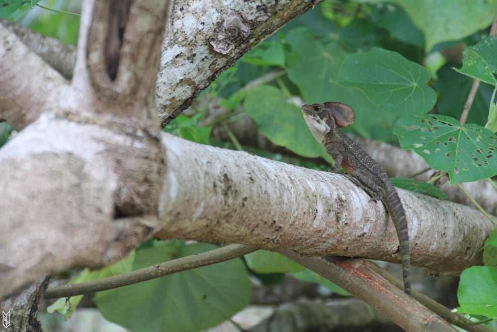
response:
[[[178,253],[167,245],[138,251],[134,268],[212,250],[214,245],[187,244]],[[250,300],[250,283],[241,259],[174,273],[95,296],[102,315],[134,332],[194,332],[229,319]]]

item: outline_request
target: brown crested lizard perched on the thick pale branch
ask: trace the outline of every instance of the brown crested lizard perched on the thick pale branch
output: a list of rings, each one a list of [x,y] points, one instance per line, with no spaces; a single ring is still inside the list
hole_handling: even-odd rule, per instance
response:
[[[354,110],[342,103],[328,102],[304,105],[302,113],[314,137],[333,157],[335,161],[333,172],[337,173],[342,166],[352,182],[361,187],[373,200],[381,200],[390,213],[399,238],[404,291],[411,295],[409,230],[406,212],[397,190],[383,168],[359,144],[338,131],[338,127],[346,127],[354,122]]]

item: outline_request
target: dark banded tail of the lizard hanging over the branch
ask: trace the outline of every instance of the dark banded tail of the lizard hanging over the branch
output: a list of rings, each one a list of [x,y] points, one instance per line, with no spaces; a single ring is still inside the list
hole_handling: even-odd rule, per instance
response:
[[[409,229],[407,225],[406,212],[402,206],[401,199],[392,183],[387,183],[385,198],[382,200],[394,221],[399,245],[401,249],[402,275],[404,277],[404,291],[411,295],[411,256],[409,252]]]

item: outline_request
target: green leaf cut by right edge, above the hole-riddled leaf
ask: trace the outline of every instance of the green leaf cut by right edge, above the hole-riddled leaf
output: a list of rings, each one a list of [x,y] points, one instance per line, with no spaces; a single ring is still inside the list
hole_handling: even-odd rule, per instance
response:
[[[463,67],[455,71],[488,84],[497,85],[497,36],[482,39],[463,51]]]

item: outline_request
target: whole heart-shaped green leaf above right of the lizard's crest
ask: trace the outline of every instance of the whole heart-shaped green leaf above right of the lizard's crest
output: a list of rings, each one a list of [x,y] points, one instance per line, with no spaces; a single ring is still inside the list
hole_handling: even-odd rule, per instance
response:
[[[347,56],[337,80],[360,89],[384,111],[399,115],[426,113],[436,101],[435,92],[425,85],[430,80],[426,68],[380,48]]]

